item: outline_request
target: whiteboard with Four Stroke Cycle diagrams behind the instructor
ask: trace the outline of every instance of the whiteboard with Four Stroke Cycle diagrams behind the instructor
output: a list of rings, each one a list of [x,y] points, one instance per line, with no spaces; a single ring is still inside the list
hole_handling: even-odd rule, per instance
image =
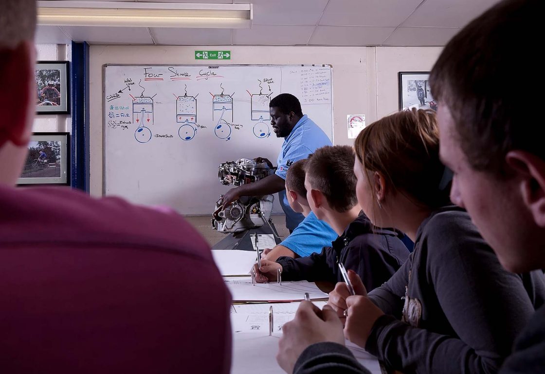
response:
[[[208,215],[220,194],[217,168],[239,158],[276,165],[283,138],[269,102],[299,98],[332,139],[329,65],[104,65],[104,195]],[[275,213],[281,213],[275,195]]]

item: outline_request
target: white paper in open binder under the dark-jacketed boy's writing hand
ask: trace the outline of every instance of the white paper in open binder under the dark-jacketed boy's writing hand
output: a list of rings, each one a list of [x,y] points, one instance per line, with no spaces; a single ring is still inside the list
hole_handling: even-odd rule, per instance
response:
[[[223,279],[233,301],[301,301],[308,292],[311,300],[327,299],[328,294],[320,291],[314,283],[282,282],[252,284],[251,277],[227,277]]]

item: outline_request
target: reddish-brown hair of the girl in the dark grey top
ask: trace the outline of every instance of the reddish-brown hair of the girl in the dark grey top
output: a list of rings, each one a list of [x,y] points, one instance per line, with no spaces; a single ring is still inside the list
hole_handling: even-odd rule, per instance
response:
[[[434,209],[449,202],[449,189],[440,189],[445,167],[434,111],[413,108],[386,116],[364,128],[354,147],[365,171],[380,172],[415,203]]]

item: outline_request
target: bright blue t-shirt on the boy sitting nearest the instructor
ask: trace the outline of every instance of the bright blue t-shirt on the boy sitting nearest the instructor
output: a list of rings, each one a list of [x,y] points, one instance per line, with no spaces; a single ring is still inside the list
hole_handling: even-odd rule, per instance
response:
[[[337,233],[311,212],[280,245],[305,257],[322,252],[323,247],[331,247],[331,242],[337,238]]]

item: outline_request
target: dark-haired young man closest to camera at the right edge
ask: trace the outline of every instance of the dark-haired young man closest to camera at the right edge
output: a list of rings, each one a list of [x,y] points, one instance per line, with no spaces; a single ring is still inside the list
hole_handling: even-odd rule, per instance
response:
[[[454,172],[452,201],[467,209],[500,263],[514,272],[545,268],[543,128],[540,115],[520,101],[520,92],[535,97],[542,70],[535,25],[542,17],[542,1],[495,5],[445,46],[430,76],[440,102],[441,158]],[[507,45],[517,53],[505,53]],[[502,82],[506,71],[519,72],[516,88]],[[545,306],[500,370],[543,372]]]

